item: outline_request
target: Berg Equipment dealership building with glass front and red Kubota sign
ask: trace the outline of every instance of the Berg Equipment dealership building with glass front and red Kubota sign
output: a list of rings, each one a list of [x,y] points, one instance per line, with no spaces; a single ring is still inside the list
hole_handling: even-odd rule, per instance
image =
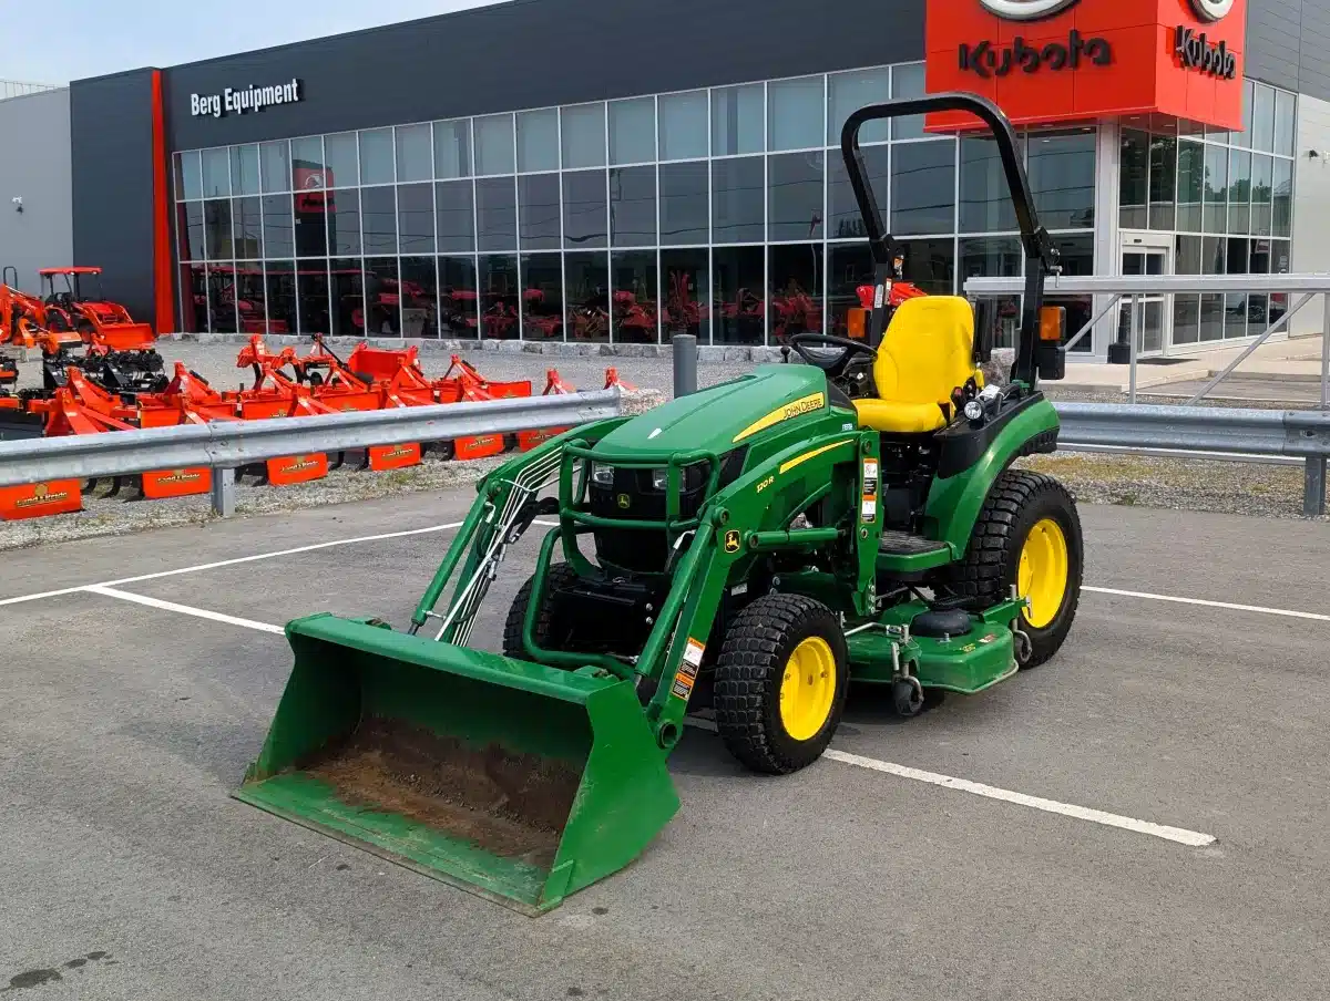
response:
[[[1065,274],[1325,271],[1327,51],[1330,0],[516,0],[0,101],[7,134],[68,153],[0,165],[27,255],[0,263],[100,265],[162,332],[845,332],[871,267],[841,124],[964,89],[1017,124]],[[991,141],[946,118],[862,138],[908,280],[1020,274]],[[1096,312],[1063,304],[1072,331]],[[1287,303],[1141,308],[1142,351],[1178,355]]]

